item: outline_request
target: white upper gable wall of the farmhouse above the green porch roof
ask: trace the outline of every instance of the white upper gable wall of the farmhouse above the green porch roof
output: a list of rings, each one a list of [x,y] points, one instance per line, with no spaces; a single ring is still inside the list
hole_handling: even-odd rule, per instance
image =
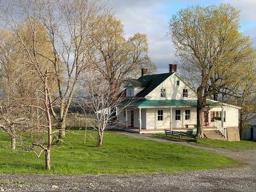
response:
[[[180,81],[180,85],[177,86],[177,80]],[[166,97],[160,96],[161,88],[166,89]],[[183,89],[188,90],[188,97],[183,97]],[[174,100],[182,100],[182,99],[197,99],[196,93],[188,87],[188,85],[180,79],[176,74],[169,76],[165,79],[161,84],[159,84],[156,89],[154,89],[151,93],[146,96],[151,100],[161,100],[161,99],[174,99]]]

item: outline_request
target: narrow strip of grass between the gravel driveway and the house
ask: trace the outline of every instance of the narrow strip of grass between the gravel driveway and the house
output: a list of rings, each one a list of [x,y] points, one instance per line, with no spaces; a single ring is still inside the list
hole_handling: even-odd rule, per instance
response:
[[[184,140],[179,139],[178,137],[172,138],[172,136],[164,134],[155,134],[155,137],[158,138],[164,138],[174,141],[187,141],[187,138],[184,138]],[[220,147],[220,148],[226,148],[227,150],[249,150],[256,147],[255,141],[223,141],[223,140],[216,140],[216,139],[205,139],[205,138],[198,138],[197,142],[190,142],[194,145],[201,145],[201,146],[211,146],[211,147]]]

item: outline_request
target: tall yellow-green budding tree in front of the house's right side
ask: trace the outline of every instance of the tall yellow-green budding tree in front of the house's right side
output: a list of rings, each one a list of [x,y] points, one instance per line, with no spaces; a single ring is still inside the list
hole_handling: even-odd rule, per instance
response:
[[[228,4],[189,6],[170,19],[176,55],[196,82],[199,137],[206,99],[236,79],[241,63],[253,62],[254,50],[249,37],[239,32],[239,19],[239,11]]]

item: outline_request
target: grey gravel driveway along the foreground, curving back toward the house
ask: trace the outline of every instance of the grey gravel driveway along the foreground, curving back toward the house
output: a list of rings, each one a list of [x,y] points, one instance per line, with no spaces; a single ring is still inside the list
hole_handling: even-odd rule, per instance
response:
[[[170,142],[146,135],[120,133],[161,142]],[[177,142],[175,142],[177,143]],[[183,145],[191,145],[181,142]],[[0,175],[0,191],[256,191],[256,148],[233,152],[202,147],[247,162],[231,169],[150,175]]]

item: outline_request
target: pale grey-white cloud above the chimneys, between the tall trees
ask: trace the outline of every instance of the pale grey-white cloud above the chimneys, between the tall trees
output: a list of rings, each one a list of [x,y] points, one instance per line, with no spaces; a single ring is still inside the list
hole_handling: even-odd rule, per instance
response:
[[[148,37],[148,55],[158,67],[158,73],[168,71],[168,63],[174,60],[174,48],[168,32],[168,18],[162,11],[163,1],[110,1],[117,10],[116,16],[124,24],[126,38],[145,33]]]

